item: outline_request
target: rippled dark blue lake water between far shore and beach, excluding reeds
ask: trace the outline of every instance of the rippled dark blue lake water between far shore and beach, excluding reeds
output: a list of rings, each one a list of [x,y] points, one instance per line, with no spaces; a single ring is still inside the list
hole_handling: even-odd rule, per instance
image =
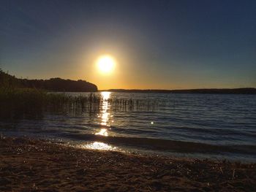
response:
[[[88,93],[69,93],[72,95]],[[60,139],[79,147],[256,159],[256,96],[184,93],[110,93],[104,99],[157,99],[154,111],[45,115],[42,120],[0,122],[0,132]]]

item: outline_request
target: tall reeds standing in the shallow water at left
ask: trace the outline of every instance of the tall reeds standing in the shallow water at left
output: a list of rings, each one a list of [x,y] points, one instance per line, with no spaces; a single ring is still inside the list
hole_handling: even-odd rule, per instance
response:
[[[0,88],[0,118],[42,118],[56,114],[97,113],[108,102],[113,111],[154,111],[158,102],[150,99],[103,99],[99,94],[70,96],[35,88]]]

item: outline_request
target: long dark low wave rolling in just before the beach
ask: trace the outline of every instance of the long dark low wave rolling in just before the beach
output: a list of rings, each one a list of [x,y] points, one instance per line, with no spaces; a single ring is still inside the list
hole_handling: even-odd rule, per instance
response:
[[[238,153],[256,154],[256,145],[211,145],[198,142],[183,142],[167,139],[141,137],[104,137],[94,134],[61,134],[69,139],[106,142],[111,145],[140,147],[147,150],[172,151],[179,153]]]

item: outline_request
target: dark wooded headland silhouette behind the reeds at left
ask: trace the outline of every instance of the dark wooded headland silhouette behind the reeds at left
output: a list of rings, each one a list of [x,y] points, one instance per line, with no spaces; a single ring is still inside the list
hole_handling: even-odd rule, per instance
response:
[[[85,80],[63,80],[61,78],[51,78],[50,80],[27,80],[18,79],[7,74],[0,69],[0,87],[12,88],[39,88],[48,91],[67,92],[94,92],[97,86]]]

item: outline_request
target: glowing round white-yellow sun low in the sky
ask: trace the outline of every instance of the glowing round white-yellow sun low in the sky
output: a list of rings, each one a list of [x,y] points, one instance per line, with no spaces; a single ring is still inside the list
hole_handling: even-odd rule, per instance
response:
[[[116,61],[110,55],[102,55],[97,59],[97,67],[99,72],[102,72],[103,74],[109,74],[110,72],[113,72],[115,66]]]

